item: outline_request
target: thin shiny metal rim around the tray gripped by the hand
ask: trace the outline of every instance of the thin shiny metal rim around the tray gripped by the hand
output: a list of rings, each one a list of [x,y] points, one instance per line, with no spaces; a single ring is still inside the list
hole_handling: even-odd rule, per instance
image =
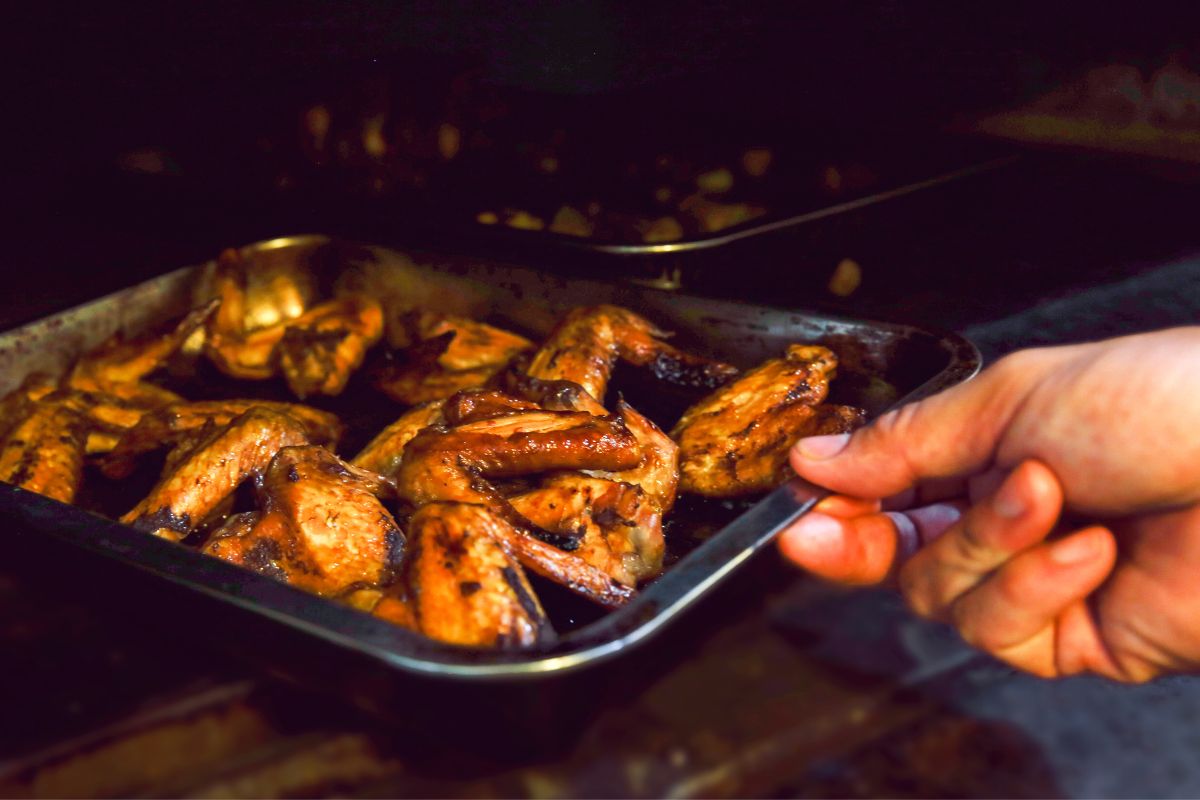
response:
[[[306,234],[262,240],[244,246],[241,251],[272,251],[288,247],[322,246],[334,242],[346,243],[344,240],[322,234]],[[358,242],[355,245],[401,252],[386,245],[361,245]],[[414,255],[425,254],[419,251],[404,252]],[[443,258],[446,255],[455,258],[452,254],[442,254]],[[467,257],[467,260],[488,264],[492,267],[527,270],[534,275],[544,275],[544,272],[538,270],[503,261],[491,261],[472,257]],[[193,273],[197,270],[204,269],[206,264],[200,263],[170,270],[138,284],[80,303],[79,306],[14,326],[0,332],[0,337],[14,335],[26,327],[47,324],[50,320],[90,306],[110,303],[115,299],[136,291],[139,288],[150,287],[157,282],[166,282],[172,276],[180,277],[185,273]],[[418,264],[420,264],[419,260]],[[439,272],[436,266],[428,264],[419,269]],[[582,282],[620,285],[614,281]],[[740,306],[793,315],[804,314],[809,318],[854,325],[870,325],[881,330],[918,332],[931,337],[947,351],[947,365],[900,398],[896,404],[911,402],[966,380],[979,371],[982,363],[979,350],[958,333],[899,323],[856,319],[818,311],[782,309],[762,303],[661,291],[643,287],[637,287],[636,290],[638,293],[652,293],[682,300],[718,302],[726,306]],[[679,582],[680,578],[678,576],[683,573],[683,570],[679,567],[688,560],[694,558],[700,560],[702,555],[707,554],[707,551],[719,549],[719,546],[722,543],[728,546],[722,534],[726,534],[732,527],[754,515],[756,510],[762,512],[772,498],[785,499],[788,495],[794,495],[797,491],[803,492],[803,488],[797,488],[802,483],[798,479],[794,479],[760,499],[737,518],[713,534],[706,542],[684,555],[664,576],[641,590],[628,606],[613,610],[599,620],[571,631],[560,638],[556,638],[547,645],[530,650],[478,650],[433,642],[349,606],[301,591],[288,584],[241,570],[218,559],[211,559],[198,552],[179,547],[173,542],[156,540],[142,531],[137,531],[133,528],[78,506],[58,503],[13,486],[5,485],[5,492],[0,493],[0,516],[10,519],[18,518],[28,523],[28,527],[37,529],[38,534],[49,534],[67,545],[76,546],[77,548],[82,547],[98,555],[116,560],[126,567],[150,573],[157,579],[166,579],[176,585],[186,587],[190,590],[236,606],[241,610],[250,612],[257,616],[268,618],[272,622],[282,622],[292,630],[314,636],[338,648],[354,650],[373,661],[398,668],[402,672],[460,680],[536,680],[550,675],[577,672],[608,661],[652,638],[683,613],[686,607],[722,583],[743,561],[762,549],[766,543],[774,539],[778,528],[760,531],[755,541],[738,548],[736,553],[730,554],[730,558],[722,559],[718,569],[703,576],[701,581],[692,582],[691,585],[685,587],[676,597],[660,599],[658,595],[664,594],[665,590],[659,589],[655,591],[655,589],[662,585],[670,587],[671,582]],[[809,498],[809,500],[808,507],[811,507],[815,504],[815,499]],[[794,503],[794,497],[788,501]],[[56,516],[58,519],[38,519],[40,515]],[[62,523],[67,524],[64,525]],[[68,533],[68,529],[74,529],[79,533],[74,535]],[[114,535],[116,540],[112,539]],[[150,554],[149,558],[148,553]],[[215,585],[211,581],[212,573],[216,573],[217,577],[223,577],[224,583]],[[673,581],[668,581],[671,576],[677,577]],[[236,588],[239,591],[233,591],[230,588]],[[619,630],[622,625],[628,625],[628,630],[622,632]],[[613,628],[618,630],[613,631]],[[408,652],[400,651],[396,646],[400,644],[403,644],[403,649],[408,650]],[[418,655],[413,655],[413,651],[416,651]],[[466,662],[463,661],[464,657]]]

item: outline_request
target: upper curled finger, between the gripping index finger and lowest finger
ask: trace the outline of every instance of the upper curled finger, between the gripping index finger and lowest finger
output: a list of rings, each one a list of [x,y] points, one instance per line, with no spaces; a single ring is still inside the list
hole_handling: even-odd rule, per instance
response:
[[[900,591],[914,612],[948,619],[961,595],[1050,534],[1062,510],[1062,487],[1048,467],[1027,461],[989,498],[900,570]]]

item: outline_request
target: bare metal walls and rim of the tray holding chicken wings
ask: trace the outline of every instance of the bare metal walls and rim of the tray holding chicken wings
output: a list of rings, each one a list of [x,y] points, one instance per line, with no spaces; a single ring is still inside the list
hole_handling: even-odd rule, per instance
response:
[[[628,284],[564,281],[530,270],[455,257],[409,255],[322,236],[271,240],[245,248],[246,257],[296,259],[311,269],[335,269],[343,279],[372,291],[385,305],[403,303],[457,312],[545,335],[566,309],[581,303],[632,307],[666,329],[677,342],[748,366],[782,351],[794,341],[823,342],[840,356],[835,384],[877,415],[970,378],[979,368],[967,341],[911,326],[787,312],[761,306],[689,297]],[[186,311],[212,264],[170,272],[138,287],[0,335],[0,391],[32,371],[60,372],[89,347],[121,331],[137,333]],[[144,578],[162,597],[204,601],[235,627],[253,631],[246,640],[270,649],[274,638],[317,642],[354,656],[374,673],[462,681],[528,682],[575,673],[622,654],[661,631],[685,608],[709,594],[820,492],[790,482],[731,524],[709,536],[644,588],[629,606],[563,634],[535,650],[474,651],[432,642],[331,601],[244,571],[178,545],[146,536],[74,506],[14,487],[0,491],[6,530],[26,539],[54,540],[67,552],[107,557],[128,576]],[[684,531],[685,533],[685,531]],[[680,531],[672,534],[683,539]],[[98,564],[98,563],[97,563]],[[182,588],[181,595],[173,589]],[[206,603],[206,604],[205,604]],[[215,622],[214,622],[215,624]],[[222,632],[224,630],[222,628]]]

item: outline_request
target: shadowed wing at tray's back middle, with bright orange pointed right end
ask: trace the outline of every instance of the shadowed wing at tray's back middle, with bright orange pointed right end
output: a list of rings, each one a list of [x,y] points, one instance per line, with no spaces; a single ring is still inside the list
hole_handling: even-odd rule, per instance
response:
[[[487,383],[515,356],[533,348],[523,336],[450,314],[410,312],[395,326],[401,360],[378,378],[392,399],[415,404]]]

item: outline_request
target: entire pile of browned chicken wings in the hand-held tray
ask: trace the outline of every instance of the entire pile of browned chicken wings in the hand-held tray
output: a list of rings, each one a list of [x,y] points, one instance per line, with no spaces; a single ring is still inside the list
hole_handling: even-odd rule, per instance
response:
[[[247,281],[229,251],[215,297],[172,330],[29,375],[0,401],[0,481],[72,503],[89,465],[120,480],[164,452],[121,522],[438,640],[522,648],[553,636],[528,573],[617,608],[662,570],[680,492],[768,491],[798,438],[864,419],[824,402],[838,361],[820,345],[739,373],[616,306],[575,308],[539,344],[354,291],[306,303],[283,285],[248,313]],[[396,351],[374,381],[397,419],[353,457],[329,411],[190,402],[158,379],[191,357],[304,401],[342,392],[377,345]],[[618,361],[708,393],[667,433],[608,397]],[[235,513],[244,485],[253,509]]]

